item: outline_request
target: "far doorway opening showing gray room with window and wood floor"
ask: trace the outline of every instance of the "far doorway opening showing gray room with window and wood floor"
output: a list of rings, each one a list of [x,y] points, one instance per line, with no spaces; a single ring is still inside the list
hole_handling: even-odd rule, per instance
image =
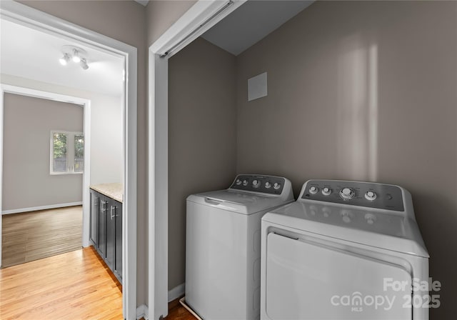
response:
[[[84,164],[90,167],[90,154],[84,159],[89,101],[4,89],[2,268],[81,249]],[[90,140],[90,128],[88,134]]]

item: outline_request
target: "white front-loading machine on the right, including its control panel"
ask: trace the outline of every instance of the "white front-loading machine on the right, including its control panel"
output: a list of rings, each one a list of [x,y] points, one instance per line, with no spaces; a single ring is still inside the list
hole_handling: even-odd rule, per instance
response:
[[[428,252],[400,186],[310,180],[262,218],[261,319],[428,319]]]

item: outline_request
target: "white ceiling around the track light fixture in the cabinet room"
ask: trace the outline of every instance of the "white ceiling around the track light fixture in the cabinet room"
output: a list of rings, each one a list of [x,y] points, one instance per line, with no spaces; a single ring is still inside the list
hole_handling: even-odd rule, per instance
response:
[[[111,96],[123,92],[124,58],[1,19],[0,72]],[[87,52],[89,69],[59,63],[65,45]]]

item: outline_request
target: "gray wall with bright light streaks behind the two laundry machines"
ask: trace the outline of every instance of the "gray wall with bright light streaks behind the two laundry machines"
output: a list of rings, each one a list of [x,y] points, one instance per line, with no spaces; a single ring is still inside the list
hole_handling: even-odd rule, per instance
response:
[[[457,3],[318,1],[237,57],[237,171],[356,179],[411,191],[441,281],[457,301]],[[268,96],[247,79],[268,72]],[[253,125],[255,124],[255,125]]]

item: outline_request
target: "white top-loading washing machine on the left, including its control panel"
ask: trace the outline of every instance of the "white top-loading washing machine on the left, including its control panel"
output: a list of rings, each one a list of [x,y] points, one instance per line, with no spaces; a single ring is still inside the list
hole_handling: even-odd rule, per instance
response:
[[[261,217],[293,200],[288,179],[251,174],[187,198],[185,300],[202,319],[260,317]]]

